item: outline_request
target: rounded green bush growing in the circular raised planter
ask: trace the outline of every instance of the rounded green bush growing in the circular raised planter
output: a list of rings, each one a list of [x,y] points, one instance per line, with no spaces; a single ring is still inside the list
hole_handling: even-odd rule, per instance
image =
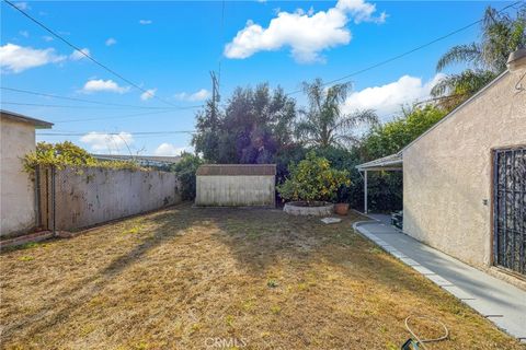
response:
[[[277,186],[282,198],[288,200],[331,201],[341,186],[351,185],[347,171],[336,171],[331,163],[315,152],[297,165],[290,164],[290,176]]]

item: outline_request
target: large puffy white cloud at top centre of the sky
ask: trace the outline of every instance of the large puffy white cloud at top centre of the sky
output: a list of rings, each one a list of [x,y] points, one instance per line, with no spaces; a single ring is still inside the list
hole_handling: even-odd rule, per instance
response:
[[[277,11],[268,27],[248,21],[243,30],[225,46],[225,56],[243,59],[258,51],[273,51],[290,47],[298,62],[322,61],[320,51],[346,45],[352,34],[348,21],[381,23],[386,14],[374,16],[376,5],[364,0],[339,0],[334,8],[315,12],[301,9],[295,12]]]

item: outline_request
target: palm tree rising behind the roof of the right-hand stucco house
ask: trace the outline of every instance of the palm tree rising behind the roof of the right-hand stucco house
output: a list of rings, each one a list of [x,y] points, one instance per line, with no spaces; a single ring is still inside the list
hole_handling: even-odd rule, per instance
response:
[[[526,7],[517,10],[516,19],[489,7],[482,20],[480,43],[457,45],[444,54],[437,71],[455,63],[467,63],[468,69],[443,78],[431,91],[443,98],[446,108],[455,107],[482,89],[506,69],[510,52],[526,46]]]

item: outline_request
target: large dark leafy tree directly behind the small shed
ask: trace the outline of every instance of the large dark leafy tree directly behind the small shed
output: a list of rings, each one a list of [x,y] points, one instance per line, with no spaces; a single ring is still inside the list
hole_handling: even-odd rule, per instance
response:
[[[210,104],[197,114],[193,144],[214,163],[270,163],[277,151],[293,142],[295,101],[281,88],[238,88],[222,112]]]

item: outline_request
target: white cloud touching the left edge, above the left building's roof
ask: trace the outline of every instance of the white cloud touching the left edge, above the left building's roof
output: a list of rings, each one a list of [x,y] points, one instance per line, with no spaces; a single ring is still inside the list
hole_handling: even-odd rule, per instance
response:
[[[65,60],[54,48],[36,49],[14,44],[0,46],[0,68],[2,72],[20,73],[26,69],[56,63]]]

